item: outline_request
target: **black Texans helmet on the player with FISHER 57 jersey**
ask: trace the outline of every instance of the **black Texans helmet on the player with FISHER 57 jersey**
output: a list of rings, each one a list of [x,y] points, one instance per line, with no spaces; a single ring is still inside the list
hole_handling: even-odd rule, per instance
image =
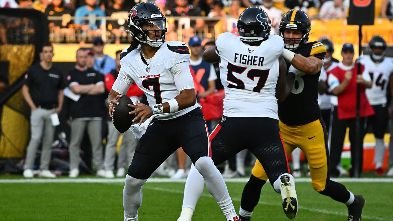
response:
[[[237,20],[237,30],[242,41],[264,41],[268,39],[271,27],[268,14],[258,6],[244,9]]]

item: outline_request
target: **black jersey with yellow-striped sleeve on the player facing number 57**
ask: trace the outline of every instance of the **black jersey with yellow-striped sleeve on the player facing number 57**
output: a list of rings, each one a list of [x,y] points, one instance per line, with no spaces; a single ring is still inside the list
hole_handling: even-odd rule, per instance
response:
[[[326,54],[325,46],[318,41],[307,42],[299,46],[295,53],[304,57],[315,56],[323,59]],[[289,68],[290,64],[288,64]],[[299,126],[320,119],[321,111],[318,105],[318,81],[321,72],[310,75],[299,73],[288,97],[278,105],[280,120],[288,126]]]

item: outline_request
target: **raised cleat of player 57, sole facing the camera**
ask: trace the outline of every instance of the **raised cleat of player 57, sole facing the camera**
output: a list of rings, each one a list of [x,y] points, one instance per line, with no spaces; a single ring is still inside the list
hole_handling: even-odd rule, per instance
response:
[[[295,190],[295,181],[288,175],[280,177],[281,197],[283,209],[289,219],[295,218],[298,213],[298,197]]]

